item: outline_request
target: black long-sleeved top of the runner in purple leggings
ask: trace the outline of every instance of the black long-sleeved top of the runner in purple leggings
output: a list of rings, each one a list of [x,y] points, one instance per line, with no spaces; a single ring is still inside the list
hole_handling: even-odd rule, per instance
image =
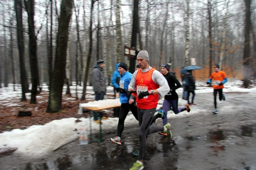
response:
[[[164,99],[176,100],[177,98],[179,98],[178,94],[176,93],[176,89],[181,87],[179,80],[177,80],[177,78],[170,72],[163,76],[166,78],[170,87],[170,92],[164,96]]]

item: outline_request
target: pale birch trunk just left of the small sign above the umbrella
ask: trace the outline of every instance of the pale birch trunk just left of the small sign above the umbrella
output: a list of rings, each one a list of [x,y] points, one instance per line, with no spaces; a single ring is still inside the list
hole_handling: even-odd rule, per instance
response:
[[[189,8],[189,0],[186,0],[187,10],[186,10],[186,45],[185,45],[185,61],[184,66],[188,66],[189,64],[189,51],[190,51],[190,8]]]

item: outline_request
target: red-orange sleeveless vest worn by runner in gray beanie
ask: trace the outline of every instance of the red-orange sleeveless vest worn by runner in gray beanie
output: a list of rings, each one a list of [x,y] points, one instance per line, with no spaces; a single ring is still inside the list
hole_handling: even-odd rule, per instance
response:
[[[141,92],[159,88],[159,85],[152,80],[152,74],[154,70],[154,68],[151,68],[149,71],[143,73],[141,69],[139,69],[136,74],[136,102],[139,109],[153,109],[157,106],[158,94],[145,96],[142,99],[138,98],[138,94]]]

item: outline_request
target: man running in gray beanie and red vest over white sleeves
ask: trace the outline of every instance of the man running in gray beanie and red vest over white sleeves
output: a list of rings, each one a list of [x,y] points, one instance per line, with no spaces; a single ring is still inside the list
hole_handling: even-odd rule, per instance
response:
[[[166,78],[158,71],[148,65],[149,57],[146,50],[142,50],[137,55],[137,61],[140,69],[136,70],[128,86],[127,97],[130,95],[136,96],[138,121],[140,125],[139,130],[139,157],[130,169],[143,169],[143,159],[146,152],[146,140],[150,133],[163,131],[167,133],[168,139],[172,138],[172,132],[170,130],[171,125],[167,123],[164,126],[150,126],[151,121],[156,112],[158,104],[158,94],[165,96],[170,87]],[[134,99],[130,98],[129,104],[132,104]]]

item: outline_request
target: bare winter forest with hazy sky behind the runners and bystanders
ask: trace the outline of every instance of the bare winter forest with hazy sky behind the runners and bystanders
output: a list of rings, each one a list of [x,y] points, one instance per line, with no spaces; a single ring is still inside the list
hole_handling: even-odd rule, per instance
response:
[[[47,112],[61,110],[67,85],[86,86],[97,59],[106,63],[108,85],[116,63],[134,72],[136,57],[124,46],[146,49],[150,66],[171,63],[179,72],[191,58],[206,80],[214,63],[229,78],[244,80],[256,73],[256,2],[253,0],[1,0],[0,88],[21,84],[30,104],[42,84],[49,85]],[[14,90],[15,90],[15,86]]]

